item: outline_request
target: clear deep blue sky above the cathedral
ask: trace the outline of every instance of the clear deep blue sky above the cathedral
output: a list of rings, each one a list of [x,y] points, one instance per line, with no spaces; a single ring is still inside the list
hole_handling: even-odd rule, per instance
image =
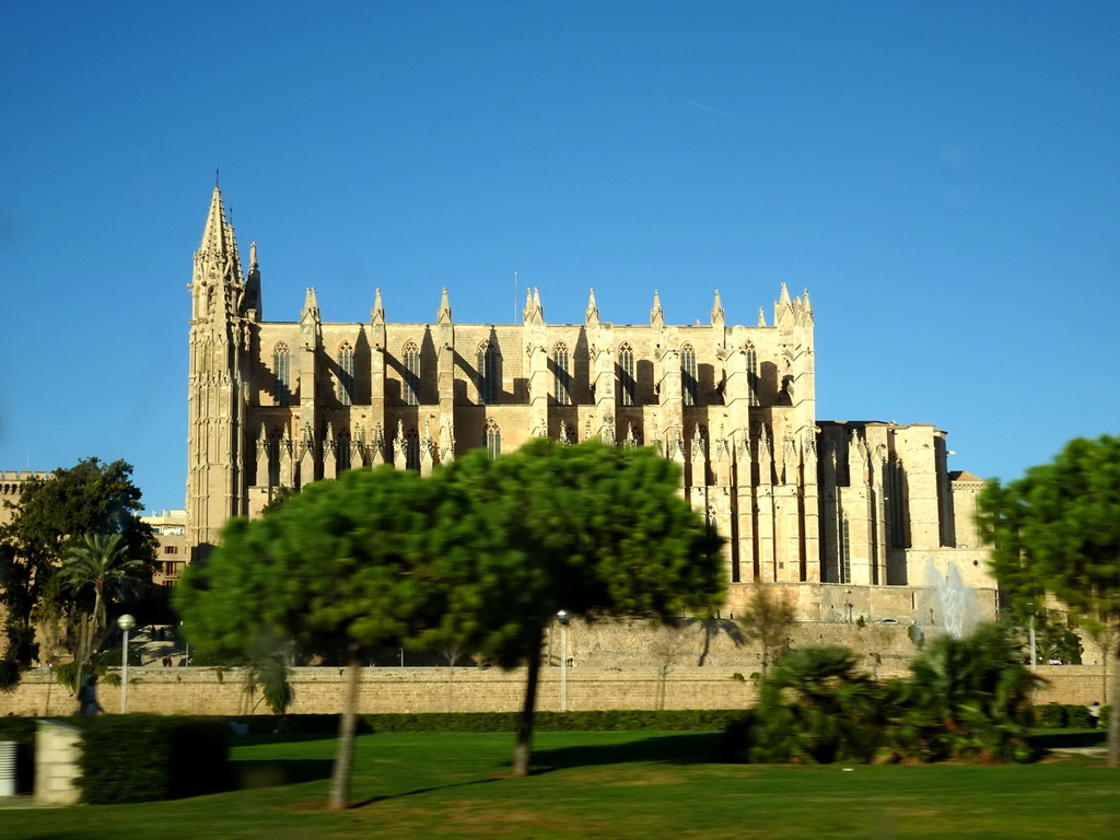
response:
[[[264,316],[816,317],[821,419],[1018,477],[1117,433],[1116,2],[11,2],[0,469],[184,502],[215,168]],[[519,315],[520,317],[520,315]]]

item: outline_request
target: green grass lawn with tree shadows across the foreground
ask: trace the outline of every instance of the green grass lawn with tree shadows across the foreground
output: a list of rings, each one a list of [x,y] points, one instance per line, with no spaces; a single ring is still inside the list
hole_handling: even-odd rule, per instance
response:
[[[354,796],[323,809],[334,740],[243,740],[242,790],[174,802],[0,809],[0,838],[1120,838],[1120,772],[1033,765],[710,764],[711,732],[544,732],[506,775],[512,735],[370,735]]]

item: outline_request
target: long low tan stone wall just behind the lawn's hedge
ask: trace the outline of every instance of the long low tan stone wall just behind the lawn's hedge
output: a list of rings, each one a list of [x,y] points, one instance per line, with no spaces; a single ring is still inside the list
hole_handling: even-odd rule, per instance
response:
[[[871,671],[872,669],[868,669]],[[1038,702],[1105,703],[1104,669],[1093,665],[1043,666],[1049,682]],[[881,666],[880,678],[902,669]],[[585,709],[737,709],[754,702],[754,683],[729,668],[584,668],[569,666],[568,708]],[[244,672],[209,668],[132,668],[129,711],[160,715],[263,713],[260,693],[245,692]],[[25,675],[16,691],[0,694],[0,715],[68,715],[77,703],[49,673]],[[365,668],[358,709],[362,712],[515,711],[524,692],[524,670],[479,668]],[[293,669],[293,713],[342,710],[345,672],[338,668]],[[101,704],[120,709],[120,689],[100,687]],[[48,699],[49,696],[49,699]],[[560,708],[560,668],[542,669],[538,709]]]

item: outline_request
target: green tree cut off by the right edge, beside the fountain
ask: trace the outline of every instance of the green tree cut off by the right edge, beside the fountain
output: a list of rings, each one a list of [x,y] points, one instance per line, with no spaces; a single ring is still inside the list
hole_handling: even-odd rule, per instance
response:
[[[1039,610],[1053,592],[1084,620],[1120,626],[1120,437],[1071,440],[1023,478],[989,483],[978,521],[1014,608]],[[1120,713],[1109,719],[1109,766],[1120,767]]]

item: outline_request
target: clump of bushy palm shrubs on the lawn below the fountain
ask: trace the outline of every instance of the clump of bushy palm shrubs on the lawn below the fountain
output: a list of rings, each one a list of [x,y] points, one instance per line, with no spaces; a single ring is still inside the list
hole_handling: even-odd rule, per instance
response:
[[[939,636],[911,674],[877,683],[841,647],[787,654],[758,706],[729,729],[743,760],[1026,760],[1036,678],[997,625]]]

